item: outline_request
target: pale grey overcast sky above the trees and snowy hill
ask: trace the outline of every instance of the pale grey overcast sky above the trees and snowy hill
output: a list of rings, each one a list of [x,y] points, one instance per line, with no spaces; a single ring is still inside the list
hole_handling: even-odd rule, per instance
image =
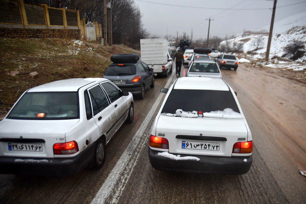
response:
[[[274,22],[304,12],[306,9],[304,1],[278,0]],[[255,30],[270,25],[272,9],[268,8],[273,8],[273,2],[271,0],[135,0],[143,15],[144,28],[151,35],[164,37],[168,34],[171,38],[173,36],[176,38],[178,32],[180,38],[180,35],[186,32],[191,38],[192,30],[193,39],[207,38],[209,20],[206,19],[209,17],[211,17],[210,37],[223,38],[226,35],[230,37],[243,32],[244,29]]]

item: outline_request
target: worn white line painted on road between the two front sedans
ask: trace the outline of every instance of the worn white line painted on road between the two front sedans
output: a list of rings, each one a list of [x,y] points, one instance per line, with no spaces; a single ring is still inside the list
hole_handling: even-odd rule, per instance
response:
[[[171,75],[171,78],[166,83],[165,87],[169,87],[171,81],[174,77],[174,72]],[[127,180],[129,179],[131,172],[133,170],[133,167],[136,164],[137,158],[139,157],[139,151],[137,152],[137,155],[135,155],[134,150],[138,143],[140,142],[140,139],[143,139],[142,136],[144,134],[144,131],[146,130],[147,126],[149,125],[149,122],[151,118],[154,116],[154,112],[159,105],[159,102],[163,99],[163,94],[159,94],[159,97],[154,102],[154,105],[152,106],[151,110],[147,114],[147,117],[144,119],[143,123],[141,124],[140,128],[137,130],[136,134],[132,138],[131,142],[129,143],[128,147],[125,149],[119,160],[117,161],[116,165],[114,166],[113,170],[110,172],[110,174],[107,176],[106,180],[104,181],[103,185],[100,187],[99,191],[95,195],[95,197],[92,199],[91,204],[99,203],[104,204],[106,199],[109,197],[110,193],[113,191],[115,184],[118,182],[119,178],[123,177],[122,182],[120,183],[120,192],[116,193],[116,196],[113,198],[112,202],[117,200],[117,196],[120,196]],[[142,140],[143,141],[143,140]],[[144,142],[141,145],[141,147],[144,146]],[[128,161],[131,157],[135,157],[134,162],[131,162],[132,164],[129,164],[129,171],[126,172],[124,175],[122,175],[123,170],[127,167]],[[121,176],[122,175],[122,176]]]

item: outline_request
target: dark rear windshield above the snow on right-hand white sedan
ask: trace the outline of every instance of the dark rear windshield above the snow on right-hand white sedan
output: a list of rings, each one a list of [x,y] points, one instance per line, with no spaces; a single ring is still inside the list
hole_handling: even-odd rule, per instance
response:
[[[183,111],[223,111],[226,108],[240,113],[230,91],[182,90],[173,89],[167,98],[162,113],[175,114],[177,109]]]

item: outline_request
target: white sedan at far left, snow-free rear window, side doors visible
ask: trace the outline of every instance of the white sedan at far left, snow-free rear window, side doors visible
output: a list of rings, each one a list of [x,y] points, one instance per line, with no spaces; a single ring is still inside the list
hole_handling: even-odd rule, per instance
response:
[[[105,145],[134,118],[133,96],[103,78],[25,91],[0,121],[0,173],[66,176],[99,169]]]

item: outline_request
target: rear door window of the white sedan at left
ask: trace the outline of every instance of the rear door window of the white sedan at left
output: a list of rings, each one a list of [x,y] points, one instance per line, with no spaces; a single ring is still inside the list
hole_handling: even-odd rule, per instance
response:
[[[91,88],[89,90],[89,95],[94,116],[109,105],[107,98],[99,85]]]

